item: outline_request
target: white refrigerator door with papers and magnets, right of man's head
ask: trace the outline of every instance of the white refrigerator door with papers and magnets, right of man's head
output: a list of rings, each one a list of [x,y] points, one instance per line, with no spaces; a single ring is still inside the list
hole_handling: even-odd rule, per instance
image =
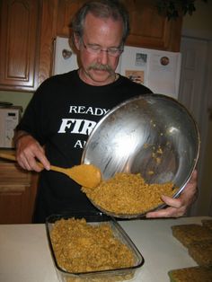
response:
[[[181,53],[126,46],[119,61],[120,74],[154,93],[177,99],[181,73]]]

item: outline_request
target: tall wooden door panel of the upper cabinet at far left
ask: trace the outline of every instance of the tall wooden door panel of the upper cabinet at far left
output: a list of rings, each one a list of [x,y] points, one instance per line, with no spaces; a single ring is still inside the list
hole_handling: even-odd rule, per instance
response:
[[[1,1],[1,90],[33,91],[38,86],[40,3]]]

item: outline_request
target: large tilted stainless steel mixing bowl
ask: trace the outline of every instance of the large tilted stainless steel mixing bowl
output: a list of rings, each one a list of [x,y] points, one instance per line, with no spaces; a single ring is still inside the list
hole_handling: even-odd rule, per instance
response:
[[[139,172],[147,183],[172,181],[178,187],[175,198],[195,169],[199,144],[198,126],[179,101],[146,94],[124,101],[100,120],[84,147],[82,163],[98,166],[104,180],[116,172]]]

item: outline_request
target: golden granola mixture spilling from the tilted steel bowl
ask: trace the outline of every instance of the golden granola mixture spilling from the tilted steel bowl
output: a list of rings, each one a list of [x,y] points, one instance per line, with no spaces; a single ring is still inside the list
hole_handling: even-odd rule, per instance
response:
[[[172,182],[147,184],[139,173],[120,172],[95,189],[82,188],[95,205],[114,214],[143,214],[163,204],[161,195],[172,197]]]

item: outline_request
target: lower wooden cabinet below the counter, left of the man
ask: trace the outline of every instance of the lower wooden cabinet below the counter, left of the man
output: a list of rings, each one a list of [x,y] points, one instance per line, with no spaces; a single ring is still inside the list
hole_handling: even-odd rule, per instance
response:
[[[37,189],[37,173],[16,163],[0,163],[0,224],[30,224]]]

